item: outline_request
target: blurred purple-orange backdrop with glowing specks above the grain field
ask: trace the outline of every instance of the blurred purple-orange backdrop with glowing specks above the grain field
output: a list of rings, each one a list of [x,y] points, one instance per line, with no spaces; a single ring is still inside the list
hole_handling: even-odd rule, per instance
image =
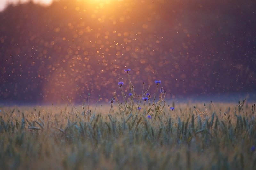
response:
[[[109,101],[119,81],[129,94],[128,68],[138,94],[161,80],[170,100],[256,99],[256,1],[9,0],[0,9],[0,103],[78,103],[88,92]]]

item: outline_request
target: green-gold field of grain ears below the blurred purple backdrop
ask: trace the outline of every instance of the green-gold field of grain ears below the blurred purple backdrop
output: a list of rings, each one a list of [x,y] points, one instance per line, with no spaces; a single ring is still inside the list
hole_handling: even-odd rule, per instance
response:
[[[1,169],[256,166],[253,103],[188,103],[174,110],[164,106],[155,119],[143,109],[127,115],[116,104],[113,112],[110,105],[91,106],[86,117],[81,106],[76,111],[69,106],[70,119],[67,106],[60,106],[62,111],[55,106],[2,106]]]

